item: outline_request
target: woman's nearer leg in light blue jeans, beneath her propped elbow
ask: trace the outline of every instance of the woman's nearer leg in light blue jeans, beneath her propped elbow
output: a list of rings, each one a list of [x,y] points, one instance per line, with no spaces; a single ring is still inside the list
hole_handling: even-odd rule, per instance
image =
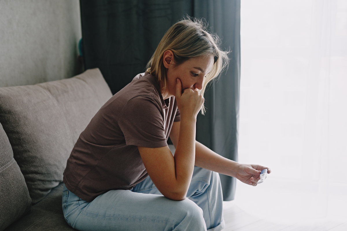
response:
[[[201,208],[189,199],[111,190],[86,202],[64,187],[62,206],[77,230],[206,230]]]

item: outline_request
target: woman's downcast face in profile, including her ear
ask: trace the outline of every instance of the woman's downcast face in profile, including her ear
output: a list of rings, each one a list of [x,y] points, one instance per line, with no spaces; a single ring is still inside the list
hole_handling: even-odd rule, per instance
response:
[[[205,75],[212,70],[213,55],[193,57],[177,65],[172,58],[173,54],[170,57],[170,52],[172,53],[170,50],[166,51],[163,56],[167,78],[167,88],[163,92],[163,98],[175,96],[177,78],[181,80],[182,92],[187,88],[194,91],[201,90]]]

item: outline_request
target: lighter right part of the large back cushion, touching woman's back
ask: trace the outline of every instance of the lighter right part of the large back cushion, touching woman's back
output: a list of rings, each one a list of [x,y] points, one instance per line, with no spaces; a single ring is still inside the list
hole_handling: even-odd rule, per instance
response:
[[[65,115],[73,144],[100,107],[112,97],[99,69],[37,86],[47,90],[57,100]]]

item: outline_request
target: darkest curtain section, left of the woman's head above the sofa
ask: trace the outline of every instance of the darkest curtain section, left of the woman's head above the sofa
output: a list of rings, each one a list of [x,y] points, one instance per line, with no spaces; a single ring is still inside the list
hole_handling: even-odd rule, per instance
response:
[[[145,66],[166,30],[192,3],[184,0],[81,0],[85,68],[99,68],[113,94]]]

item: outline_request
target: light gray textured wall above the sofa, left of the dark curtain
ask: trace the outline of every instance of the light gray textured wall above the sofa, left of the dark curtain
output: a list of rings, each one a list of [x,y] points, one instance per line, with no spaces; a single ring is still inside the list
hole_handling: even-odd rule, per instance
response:
[[[80,72],[78,0],[0,0],[0,87]]]

